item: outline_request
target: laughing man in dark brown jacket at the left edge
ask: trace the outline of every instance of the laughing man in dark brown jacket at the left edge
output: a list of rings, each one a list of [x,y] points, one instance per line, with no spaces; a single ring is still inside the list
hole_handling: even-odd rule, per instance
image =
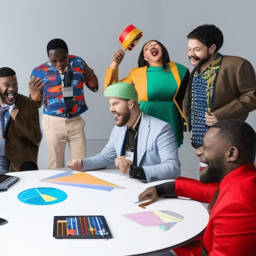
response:
[[[0,172],[37,169],[41,140],[36,102],[17,93],[16,73],[0,68]]]

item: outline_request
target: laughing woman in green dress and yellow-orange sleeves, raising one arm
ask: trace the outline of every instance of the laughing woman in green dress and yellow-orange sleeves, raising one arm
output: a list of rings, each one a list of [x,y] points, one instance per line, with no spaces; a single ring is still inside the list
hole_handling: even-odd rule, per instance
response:
[[[123,56],[121,49],[114,53],[105,73],[105,88],[118,81],[118,65]],[[189,70],[170,61],[167,49],[160,42],[150,40],[141,49],[138,67],[131,69],[120,81],[134,84],[142,112],[170,123],[179,147],[186,124],[182,101],[188,80]]]

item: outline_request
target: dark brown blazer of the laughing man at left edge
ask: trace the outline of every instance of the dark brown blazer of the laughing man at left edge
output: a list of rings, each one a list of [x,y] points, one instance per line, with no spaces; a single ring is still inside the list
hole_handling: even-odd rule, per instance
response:
[[[37,163],[41,130],[35,101],[17,94],[4,137],[5,156],[10,161],[9,171],[19,171],[21,165],[27,161]]]

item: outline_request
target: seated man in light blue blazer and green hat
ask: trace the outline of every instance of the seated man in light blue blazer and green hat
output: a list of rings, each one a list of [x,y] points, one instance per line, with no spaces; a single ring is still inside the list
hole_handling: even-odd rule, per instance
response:
[[[69,161],[73,170],[115,166],[143,182],[176,178],[180,175],[177,146],[169,123],[143,114],[133,84],[117,82],[104,92],[116,125],[108,143],[94,156]]]

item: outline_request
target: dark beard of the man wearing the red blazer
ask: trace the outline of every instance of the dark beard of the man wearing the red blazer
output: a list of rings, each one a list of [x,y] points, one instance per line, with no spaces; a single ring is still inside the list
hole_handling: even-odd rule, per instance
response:
[[[212,166],[208,166],[205,173],[200,174],[199,180],[202,183],[219,182],[221,174],[223,174],[224,170],[225,167],[223,164],[223,156],[221,156],[215,161],[215,163],[212,163]]]

